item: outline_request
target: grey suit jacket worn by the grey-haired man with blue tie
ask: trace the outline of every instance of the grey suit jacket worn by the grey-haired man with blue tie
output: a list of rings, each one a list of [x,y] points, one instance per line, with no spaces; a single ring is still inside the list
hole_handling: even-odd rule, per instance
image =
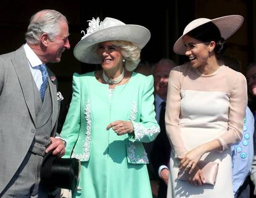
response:
[[[32,75],[23,46],[0,56],[0,194],[19,168],[35,136]],[[53,104],[51,136],[56,136],[57,80],[48,70]]]

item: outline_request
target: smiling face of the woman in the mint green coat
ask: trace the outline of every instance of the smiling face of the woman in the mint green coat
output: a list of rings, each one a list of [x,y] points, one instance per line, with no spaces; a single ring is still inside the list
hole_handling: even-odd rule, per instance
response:
[[[121,47],[106,41],[98,44],[97,53],[103,70],[118,70],[122,67]]]

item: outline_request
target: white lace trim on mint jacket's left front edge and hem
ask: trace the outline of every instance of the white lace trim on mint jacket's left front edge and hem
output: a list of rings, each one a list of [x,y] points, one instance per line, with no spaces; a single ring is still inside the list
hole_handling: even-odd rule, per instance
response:
[[[71,157],[75,157],[81,161],[87,161],[90,157],[90,142],[91,142],[91,133],[92,133],[92,119],[90,117],[90,101],[87,101],[87,105],[85,107],[85,120],[87,122],[87,128],[85,132],[85,144],[83,144],[84,152],[83,154],[73,154]]]

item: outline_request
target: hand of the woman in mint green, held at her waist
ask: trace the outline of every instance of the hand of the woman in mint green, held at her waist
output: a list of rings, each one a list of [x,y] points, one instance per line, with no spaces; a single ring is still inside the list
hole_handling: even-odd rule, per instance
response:
[[[111,122],[107,126],[106,130],[109,130],[109,128],[112,128],[118,136],[121,136],[126,133],[133,133],[134,131],[134,126],[132,125],[132,122],[123,120]]]

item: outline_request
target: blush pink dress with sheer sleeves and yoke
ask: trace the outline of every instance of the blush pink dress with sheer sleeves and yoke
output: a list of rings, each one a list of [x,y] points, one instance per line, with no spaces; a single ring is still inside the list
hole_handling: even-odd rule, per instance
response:
[[[167,197],[234,197],[230,146],[242,138],[247,106],[244,75],[224,65],[211,75],[181,65],[171,70],[166,101],[166,132],[173,148]],[[209,152],[202,159],[219,163],[215,185],[193,186],[177,179],[179,158],[213,139],[221,141],[224,151]]]

